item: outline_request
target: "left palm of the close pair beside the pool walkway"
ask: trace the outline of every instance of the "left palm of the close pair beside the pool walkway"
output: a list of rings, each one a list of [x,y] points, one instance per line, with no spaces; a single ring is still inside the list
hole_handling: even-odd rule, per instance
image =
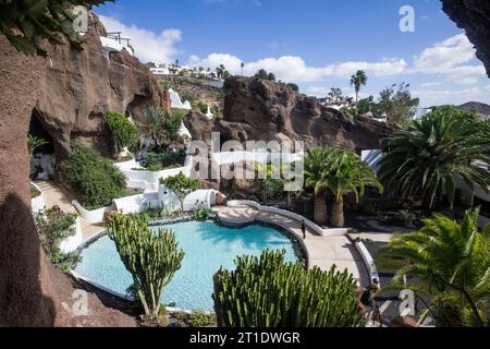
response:
[[[306,186],[315,190],[315,221],[327,224],[327,161],[329,153],[324,148],[311,148],[305,158]]]

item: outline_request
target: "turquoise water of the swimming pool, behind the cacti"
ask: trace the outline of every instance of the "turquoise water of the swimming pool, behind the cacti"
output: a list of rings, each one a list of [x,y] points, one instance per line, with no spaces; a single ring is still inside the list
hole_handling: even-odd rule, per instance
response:
[[[158,228],[158,227],[156,227]],[[223,266],[234,269],[238,255],[260,255],[262,251],[285,250],[286,262],[298,261],[293,242],[280,231],[248,226],[231,229],[211,221],[188,221],[161,226],[173,230],[185,252],[182,267],[163,290],[163,303],[186,310],[212,311],[212,276]],[[103,236],[81,253],[83,261],[75,272],[108,289],[125,294],[132,285],[114,242]]]

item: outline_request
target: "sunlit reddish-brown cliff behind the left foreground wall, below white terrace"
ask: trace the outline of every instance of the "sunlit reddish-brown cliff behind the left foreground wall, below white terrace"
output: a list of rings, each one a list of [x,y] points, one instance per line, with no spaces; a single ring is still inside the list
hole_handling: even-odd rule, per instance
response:
[[[53,140],[57,157],[70,155],[70,141],[89,145],[111,156],[114,146],[105,116],[109,110],[138,120],[150,105],[169,108],[169,98],[150,71],[123,50],[102,52],[102,24],[94,14],[84,50],[69,45],[51,50],[40,95],[33,111]]]

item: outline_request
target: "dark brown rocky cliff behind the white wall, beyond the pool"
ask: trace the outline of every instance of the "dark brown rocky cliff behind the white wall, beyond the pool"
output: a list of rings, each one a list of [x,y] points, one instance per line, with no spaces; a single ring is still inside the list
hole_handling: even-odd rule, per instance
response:
[[[352,151],[376,149],[392,134],[387,124],[321,106],[292,88],[257,77],[231,77],[224,84],[224,118],[209,124],[196,113],[186,120],[195,140],[209,140],[219,131],[221,140],[304,141],[306,146],[335,146]],[[196,127],[197,124],[197,127]]]

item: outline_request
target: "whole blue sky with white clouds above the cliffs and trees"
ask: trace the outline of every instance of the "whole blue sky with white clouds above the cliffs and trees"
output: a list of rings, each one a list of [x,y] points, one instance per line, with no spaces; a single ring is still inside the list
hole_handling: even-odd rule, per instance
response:
[[[415,32],[400,31],[400,9],[415,10]],[[422,106],[490,104],[482,63],[438,0],[119,0],[96,9],[123,31],[146,61],[173,61],[244,74],[259,68],[308,95],[353,94],[348,76],[368,74],[363,95],[407,82]]]

